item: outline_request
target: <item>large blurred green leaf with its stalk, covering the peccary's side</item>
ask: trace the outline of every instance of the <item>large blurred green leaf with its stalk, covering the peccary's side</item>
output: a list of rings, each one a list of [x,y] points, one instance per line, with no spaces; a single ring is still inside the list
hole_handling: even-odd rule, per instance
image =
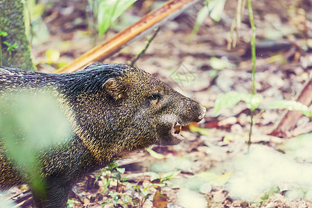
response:
[[[0,94],[1,142],[31,188],[44,194],[45,183],[37,152],[64,144],[69,123],[52,93],[23,92]]]

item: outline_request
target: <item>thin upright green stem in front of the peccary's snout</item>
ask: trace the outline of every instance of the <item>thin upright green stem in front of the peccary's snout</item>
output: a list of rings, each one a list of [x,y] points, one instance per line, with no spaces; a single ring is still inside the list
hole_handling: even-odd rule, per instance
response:
[[[252,28],[252,39],[250,41],[251,48],[252,48],[252,94],[256,94],[256,87],[255,87],[255,78],[254,75],[256,73],[256,27],[254,26],[254,16],[252,12],[252,4],[251,0],[247,0],[248,2],[248,12],[250,18],[250,25]],[[248,139],[248,151],[251,144],[251,135],[252,135],[252,125],[253,125],[253,118],[254,117],[254,110],[250,112],[250,131],[249,131],[249,139]]]

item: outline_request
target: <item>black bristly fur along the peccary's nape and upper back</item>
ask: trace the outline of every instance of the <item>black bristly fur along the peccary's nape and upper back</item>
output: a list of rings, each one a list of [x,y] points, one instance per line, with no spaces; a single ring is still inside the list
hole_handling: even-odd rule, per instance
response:
[[[82,92],[95,94],[109,78],[121,76],[127,69],[130,66],[124,64],[91,64],[75,73],[55,74],[0,67],[0,91],[12,86],[12,83],[6,83],[10,80],[19,85],[24,83],[24,87],[57,87],[63,94],[71,96]],[[1,81],[1,76],[6,76],[6,80]]]

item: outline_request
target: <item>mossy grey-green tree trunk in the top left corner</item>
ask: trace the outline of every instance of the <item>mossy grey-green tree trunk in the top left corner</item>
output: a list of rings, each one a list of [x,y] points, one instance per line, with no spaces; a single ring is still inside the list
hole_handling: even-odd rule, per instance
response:
[[[21,0],[0,0],[0,29],[8,34],[0,37],[2,66],[35,71],[25,34],[24,5]],[[10,52],[3,41],[10,45],[16,43],[18,48]]]

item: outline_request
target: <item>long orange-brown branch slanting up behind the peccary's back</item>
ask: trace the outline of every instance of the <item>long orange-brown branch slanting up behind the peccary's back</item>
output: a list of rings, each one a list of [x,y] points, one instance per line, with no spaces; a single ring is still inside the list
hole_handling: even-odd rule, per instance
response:
[[[135,24],[132,24],[128,28],[125,28],[125,30],[116,33],[116,35],[114,35],[114,37],[112,37],[110,40],[95,46],[93,49],[90,49],[83,55],[80,55],[80,57],[73,60],[73,62],[58,69],[55,71],[55,73],[77,71],[91,62],[103,60],[109,57],[112,55],[112,53],[119,51],[122,46],[130,42],[130,40],[132,40],[134,37],[137,37],[137,35],[140,35],[148,29],[153,28],[153,26],[159,26],[159,24],[163,24],[164,20],[167,20],[170,17],[175,17],[177,13],[180,14],[177,11],[184,11],[184,9],[191,6],[193,3],[196,3],[196,1],[197,0],[168,1],[163,6],[149,12]]]

